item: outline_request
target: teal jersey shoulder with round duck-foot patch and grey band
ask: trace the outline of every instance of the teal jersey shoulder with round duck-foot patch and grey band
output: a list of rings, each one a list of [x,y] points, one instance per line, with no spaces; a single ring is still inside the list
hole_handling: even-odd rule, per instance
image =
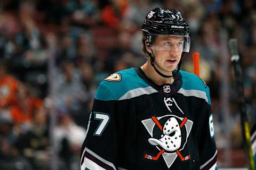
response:
[[[154,89],[139,77],[135,69],[130,68],[111,74],[103,80],[96,91],[95,99],[123,100],[150,94],[153,91]]]

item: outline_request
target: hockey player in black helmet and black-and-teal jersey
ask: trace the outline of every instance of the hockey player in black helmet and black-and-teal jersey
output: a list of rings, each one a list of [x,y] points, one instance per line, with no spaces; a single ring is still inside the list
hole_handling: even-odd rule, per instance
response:
[[[187,22],[154,8],[142,32],[147,62],[99,84],[81,169],[217,169],[209,88],[180,70]]]

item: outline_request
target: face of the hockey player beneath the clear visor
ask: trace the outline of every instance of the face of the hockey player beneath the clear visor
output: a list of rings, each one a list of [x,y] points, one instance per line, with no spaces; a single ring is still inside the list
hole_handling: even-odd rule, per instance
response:
[[[158,35],[151,47],[155,57],[154,63],[162,71],[172,72],[180,62],[183,45],[183,37]]]

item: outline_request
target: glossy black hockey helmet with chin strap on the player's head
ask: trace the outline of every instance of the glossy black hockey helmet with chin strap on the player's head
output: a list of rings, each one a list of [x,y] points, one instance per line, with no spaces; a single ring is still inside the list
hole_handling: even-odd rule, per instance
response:
[[[184,38],[183,53],[189,52],[190,49],[190,37],[189,37],[189,25],[183,19],[179,10],[165,9],[156,7],[151,10],[142,24],[141,30],[143,35],[147,37],[146,45],[151,47],[154,43],[157,35],[170,35],[181,36]],[[184,53],[185,52],[185,53]],[[154,55],[148,54],[151,59],[151,65],[155,68],[156,72],[165,78],[170,76],[160,73],[154,65]],[[178,65],[178,71],[181,66],[181,61]]]

